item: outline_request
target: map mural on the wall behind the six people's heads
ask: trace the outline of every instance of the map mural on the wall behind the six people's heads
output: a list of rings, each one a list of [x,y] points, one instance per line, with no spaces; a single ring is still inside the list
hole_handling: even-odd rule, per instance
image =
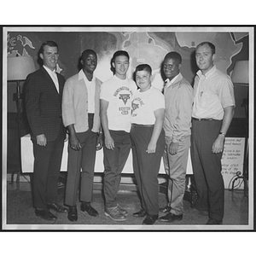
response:
[[[84,49],[94,49],[98,55],[96,76],[105,81],[113,73],[110,60],[118,49],[131,56],[129,76],[135,67],[148,63],[153,69],[154,86],[161,89],[163,79],[160,67],[169,51],[177,51],[183,57],[181,73],[193,84],[197,71],[195,47],[203,41],[216,46],[216,66],[230,74],[234,63],[248,60],[248,32],[8,32],[8,57],[30,55],[39,67],[38,49],[45,40],[59,44],[58,72],[65,78],[78,73],[79,56]]]

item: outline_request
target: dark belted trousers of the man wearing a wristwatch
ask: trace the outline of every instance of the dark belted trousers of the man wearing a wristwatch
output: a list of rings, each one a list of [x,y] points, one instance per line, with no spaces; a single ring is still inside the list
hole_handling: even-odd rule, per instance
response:
[[[195,208],[208,211],[209,217],[224,217],[224,180],[222,153],[213,154],[212,144],[218,137],[222,121],[193,120],[191,135],[191,161],[198,199]]]

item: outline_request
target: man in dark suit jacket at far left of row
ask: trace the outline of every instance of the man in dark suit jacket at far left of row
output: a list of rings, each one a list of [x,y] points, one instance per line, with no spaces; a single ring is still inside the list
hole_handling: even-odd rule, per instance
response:
[[[55,220],[49,212],[67,212],[58,205],[57,187],[66,130],[61,118],[64,77],[56,73],[58,45],[53,41],[42,44],[39,57],[43,67],[27,76],[24,85],[26,116],[31,128],[34,154],[33,203],[37,216]]]

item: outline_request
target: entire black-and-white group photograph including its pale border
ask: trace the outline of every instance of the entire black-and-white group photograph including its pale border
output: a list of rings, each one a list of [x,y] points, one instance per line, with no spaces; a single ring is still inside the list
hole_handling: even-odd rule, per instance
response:
[[[251,26],[4,26],[3,230],[253,230]]]

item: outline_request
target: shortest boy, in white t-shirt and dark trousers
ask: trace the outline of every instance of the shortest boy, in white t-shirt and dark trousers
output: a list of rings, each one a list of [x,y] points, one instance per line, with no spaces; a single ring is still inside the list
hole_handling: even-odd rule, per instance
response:
[[[148,64],[137,66],[137,90],[132,101],[131,145],[133,171],[141,195],[142,209],[134,217],[145,217],[143,224],[154,224],[159,212],[158,173],[165,148],[163,121],[165,97],[151,85],[152,69]]]

